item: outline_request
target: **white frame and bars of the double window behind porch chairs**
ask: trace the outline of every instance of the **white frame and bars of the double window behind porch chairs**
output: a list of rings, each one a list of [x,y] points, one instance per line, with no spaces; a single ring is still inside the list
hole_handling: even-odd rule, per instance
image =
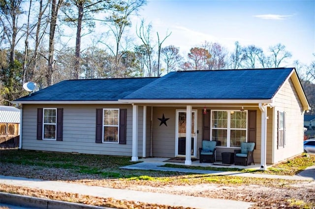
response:
[[[212,112],[227,112],[227,127],[226,128],[214,128],[212,124]],[[231,128],[231,112],[246,112],[246,128]],[[217,146],[220,148],[235,148],[238,149],[240,147],[231,147],[231,130],[245,130],[246,131],[246,142],[248,142],[248,111],[247,110],[211,110],[210,113],[210,137],[212,140],[212,130],[226,130],[226,147]]]

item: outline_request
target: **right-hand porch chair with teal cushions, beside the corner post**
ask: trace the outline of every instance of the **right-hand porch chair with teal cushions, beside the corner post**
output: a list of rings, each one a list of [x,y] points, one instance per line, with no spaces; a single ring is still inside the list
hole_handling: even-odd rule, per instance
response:
[[[253,158],[254,148],[254,142],[242,142],[241,149],[234,149],[234,164],[248,166],[253,163],[255,165]]]

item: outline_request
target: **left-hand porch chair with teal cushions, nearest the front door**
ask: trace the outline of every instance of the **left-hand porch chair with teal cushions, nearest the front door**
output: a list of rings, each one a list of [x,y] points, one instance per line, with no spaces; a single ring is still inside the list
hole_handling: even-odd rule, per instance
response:
[[[216,161],[216,141],[202,140],[202,147],[199,148],[199,162],[209,161],[213,163]]]

